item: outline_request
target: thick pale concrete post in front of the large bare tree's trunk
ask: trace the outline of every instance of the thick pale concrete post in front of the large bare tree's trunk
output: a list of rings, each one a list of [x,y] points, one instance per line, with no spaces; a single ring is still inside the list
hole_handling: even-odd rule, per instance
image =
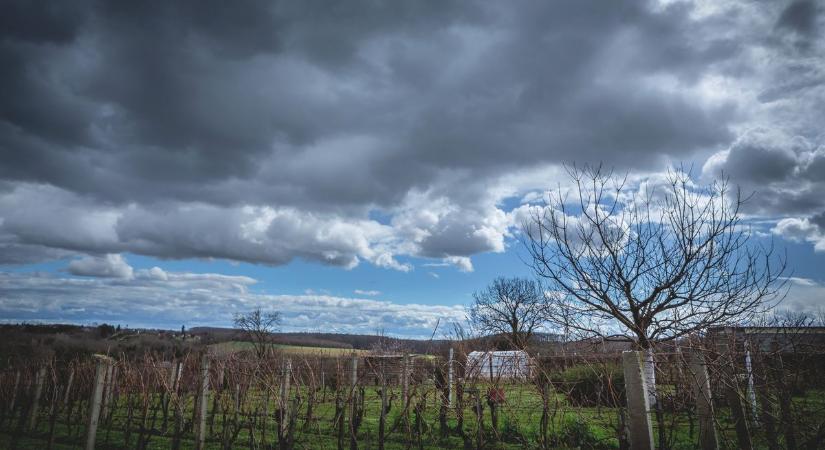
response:
[[[648,389],[642,352],[622,352],[625,390],[627,392],[628,438],[633,450],[653,450]]]

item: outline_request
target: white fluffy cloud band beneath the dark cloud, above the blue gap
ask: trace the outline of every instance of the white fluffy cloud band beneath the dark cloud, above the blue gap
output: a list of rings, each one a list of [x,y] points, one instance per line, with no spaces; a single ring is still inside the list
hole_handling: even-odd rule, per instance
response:
[[[125,276],[112,269],[120,262],[116,256],[95,256],[123,252],[273,266],[295,258],[344,268],[368,262],[404,272],[413,266],[398,257],[413,256],[471,272],[472,255],[502,252],[511,236],[514,224],[499,200],[486,195],[460,205],[445,196],[413,194],[388,211],[389,223],[381,223],[362,211],[179,202],[101,206],[56,187],[20,184],[0,191],[0,237],[6,247],[92,255],[72,262],[70,271],[78,275]]]

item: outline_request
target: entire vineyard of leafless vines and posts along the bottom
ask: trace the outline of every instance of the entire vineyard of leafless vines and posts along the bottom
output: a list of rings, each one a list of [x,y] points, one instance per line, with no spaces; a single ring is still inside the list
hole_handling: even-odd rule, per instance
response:
[[[644,422],[658,448],[821,448],[821,352],[762,347],[657,350],[655,390],[638,352],[533,355],[522,376],[461,350],[24,361],[0,372],[0,447],[620,449]]]

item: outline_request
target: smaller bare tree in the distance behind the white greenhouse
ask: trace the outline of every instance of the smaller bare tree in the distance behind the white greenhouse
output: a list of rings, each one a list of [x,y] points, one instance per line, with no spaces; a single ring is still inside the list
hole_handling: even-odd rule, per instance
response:
[[[523,350],[546,321],[546,303],[536,281],[499,277],[473,294],[470,321],[485,333],[501,333]]]

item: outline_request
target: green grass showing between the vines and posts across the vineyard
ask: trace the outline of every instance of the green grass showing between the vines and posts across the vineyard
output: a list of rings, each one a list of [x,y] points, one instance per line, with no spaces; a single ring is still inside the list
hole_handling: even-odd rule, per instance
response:
[[[480,392],[486,390],[485,385],[478,386]],[[424,391],[417,391],[413,396],[413,403],[416,399],[421,398],[422,395],[426,397],[426,408],[422,415],[423,418],[423,433],[421,436],[422,447],[428,449],[434,448],[463,448],[464,441],[457,430],[457,411],[451,409],[448,416],[448,426],[450,432],[448,436],[441,437],[438,421],[439,401],[437,392],[434,390],[432,384],[424,384],[418,389],[425,389]],[[368,386],[365,388],[365,414],[363,424],[358,432],[359,448],[377,448],[378,443],[378,422],[379,422],[379,408],[380,395],[377,386]],[[393,424],[400,420],[400,403],[399,403],[399,388],[392,387],[391,393],[396,396],[393,401],[393,407],[388,415],[387,431],[389,433]],[[488,449],[523,449],[523,448],[537,448],[539,441],[540,429],[539,423],[541,420],[541,399],[536,391],[530,385],[509,385],[505,387],[506,402],[499,408],[499,423],[498,428],[492,429],[491,418],[489,414],[489,407],[484,402],[484,413],[482,428],[485,435],[485,448]],[[278,406],[277,396],[271,393],[268,399],[268,409],[270,414],[273,414]],[[308,392],[305,388],[300,390],[293,390],[292,396],[299,395],[306,399]],[[218,403],[224,405],[231,405],[233,403],[232,392],[222,391],[212,393],[214,398],[218,395]],[[336,448],[335,433],[332,428],[332,421],[334,416],[334,398],[335,393],[330,390],[326,391],[324,397],[323,392],[317,393],[317,401],[315,407],[316,420],[309,424],[304,429],[304,419],[306,413],[306,403],[300,406],[300,413],[297,421],[297,439],[296,448],[299,449],[334,449]],[[262,391],[250,392],[245,400],[245,405],[248,410],[258,410],[264,408],[264,401],[266,393]],[[155,395],[151,398],[153,404],[159,404],[160,397]],[[482,399],[483,401],[483,399]],[[112,420],[102,421],[98,429],[97,443],[98,448],[134,448],[137,438],[137,423],[139,414],[136,411],[132,422],[132,433],[129,441],[126,441],[124,430],[126,429],[126,415],[127,408],[125,406],[125,397],[121,396],[118,399],[117,405],[113,408]],[[823,411],[825,407],[825,393],[821,391],[812,391],[805,398],[794,399],[796,405],[803,405],[813,408],[812,410]],[[213,402],[209,402],[209,410],[213,412]],[[574,447],[581,446],[581,448],[599,448],[599,449],[613,449],[618,448],[618,440],[616,437],[616,426],[619,418],[619,410],[608,407],[574,407],[567,402],[562,394],[556,394],[551,399],[551,413],[555,412],[549,425],[549,434],[554,442],[559,445],[558,448],[564,446]],[[813,405],[813,406],[811,406]],[[79,405],[85,413],[86,404]],[[184,427],[183,440],[181,448],[194,448],[194,435],[191,429],[191,419],[194,409],[194,400],[191,396],[187,397],[184,410]],[[347,408],[348,410],[348,408]],[[411,410],[412,411],[412,410]],[[474,439],[477,431],[476,418],[472,410],[472,401],[468,396],[466,397],[466,405],[463,410],[465,421],[463,431],[471,440]],[[718,410],[719,420],[723,425],[721,433],[721,440],[727,448],[735,446],[735,435],[733,434],[732,426],[729,421],[729,413],[724,408]],[[151,414],[150,414],[151,415]],[[249,417],[241,417],[241,420],[247,420]],[[411,426],[415,423],[415,415],[411,412],[409,415]],[[802,427],[803,421],[823,421],[822,417],[800,417]],[[171,446],[171,423],[170,426],[164,429],[161,426],[161,415],[155,421],[155,433],[152,435],[147,448],[150,449],[167,449]],[[689,433],[688,418],[684,414],[666,414],[666,422],[668,424],[674,423],[673,436],[675,440],[674,449],[695,448],[698,430],[694,429],[691,436]],[[226,423],[231,423],[227,420]],[[9,448],[11,444],[11,434],[15,429],[17,422],[10,423],[5,420],[0,424],[0,448]],[[213,424],[213,434],[207,440],[207,448],[219,449],[221,448],[219,442],[219,435],[223,428],[223,415],[215,415]],[[267,440],[269,443],[275,441],[275,420],[270,418],[267,423]],[[261,439],[261,424],[254,427],[254,436],[257,441]],[[48,440],[48,417],[47,411],[41,411],[40,420],[37,428],[34,431],[27,432],[26,437],[18,442],[18,448],[42,449]],[[79,426],[69,426],[66,421],[65,411],[61,412],[55,426],[55,449],[69,449],[78,448],[83,442],[83,431],[85,425],[80,423]],[[668,430],[670,431],[670,430]],[[758,448],[764,448],[764,442],[759,438],[760,430],[754,430],[755,443]],[[657,435],[654,430],[654,436]],[[497,437],[496,437],[497,436]],[[249,442],[249,430],[244,428],[238,434],[234,442],[235,448],[246,448]],[[387,449],[401,449],[407,448],[407,442],[410,439],[417,438],[414,430],[409,432],[406,427],[400,426],[392,433],[389,433],[386,438]],[[345,439],[345,446],[349,446],[349,438]],[[413,445],[415,448],[416,445]],[[724,448],[724,447],[723,447]]]

